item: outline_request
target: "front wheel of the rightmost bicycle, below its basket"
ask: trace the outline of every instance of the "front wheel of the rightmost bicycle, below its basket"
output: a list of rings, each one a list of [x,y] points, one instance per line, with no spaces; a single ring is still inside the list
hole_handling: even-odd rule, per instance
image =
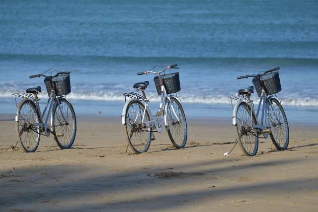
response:
[[[271,104],[268,107],[267,118],[271,130],[270,138],[277,150],[286,149],[289,143],[289,128],[284,109],[280,102],[270,99]]]

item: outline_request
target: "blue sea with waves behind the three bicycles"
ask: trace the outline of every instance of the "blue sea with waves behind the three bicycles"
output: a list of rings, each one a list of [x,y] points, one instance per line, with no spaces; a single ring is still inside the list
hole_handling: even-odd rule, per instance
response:
[[[145,80],[156,111],[154,76],[136,72],[178,64],[186,115],[231,119],[228,96],[252,85],[236,77],[280,67],[288,119],[318,123],[317,11],[317,0],[1,0],[0,113],[38,85],[44,106],[43,78],[28,76],[51,68],[72,71],[77,114],[119,117]]]

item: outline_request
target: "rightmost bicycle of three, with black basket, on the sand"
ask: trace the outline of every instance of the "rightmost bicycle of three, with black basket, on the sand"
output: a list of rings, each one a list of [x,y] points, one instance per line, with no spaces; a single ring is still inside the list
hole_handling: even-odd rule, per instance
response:
[[[237,79],[253,77],[252,82],[260,97],[256,115],[253,100],[250,99],[251,94],[254,93],[254,86],[240,89],[239,94],[230,96],[231,102],[232,99],[238,101],[233,108],[232,124],[237,133],[237,141],[247,156],[255,155],[258,139],[267,139],[268,135],[277,150],[284,150],[288,146],[289,128],[286,114],[280,101],[273,97],[273,94],[281,91],[278,70],[279,67],[258,74],[237,77]],[[262,114],[259,122],[260,109]]]

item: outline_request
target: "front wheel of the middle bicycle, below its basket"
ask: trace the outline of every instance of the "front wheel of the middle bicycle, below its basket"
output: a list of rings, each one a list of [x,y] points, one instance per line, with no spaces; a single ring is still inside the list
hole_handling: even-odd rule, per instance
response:
[[[167,103],[166,121],[167,132],[172,144],[176,148],[183,148],[187,142],[187,121],[180,102],[171,97],[171,102]]]

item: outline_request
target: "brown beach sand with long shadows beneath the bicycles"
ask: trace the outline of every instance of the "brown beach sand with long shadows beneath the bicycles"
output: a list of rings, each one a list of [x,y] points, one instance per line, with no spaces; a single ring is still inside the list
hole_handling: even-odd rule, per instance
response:
[[[78,116],[71,149],[41,137],[12,152],[13,116],[0,115],[0,211],[318,211],[318,125],[290,124],[290,144],[260,140],[242,156],[231,119],[188,119],[186,148],[166,132],[149,151],[125,152],[120,117]]]

